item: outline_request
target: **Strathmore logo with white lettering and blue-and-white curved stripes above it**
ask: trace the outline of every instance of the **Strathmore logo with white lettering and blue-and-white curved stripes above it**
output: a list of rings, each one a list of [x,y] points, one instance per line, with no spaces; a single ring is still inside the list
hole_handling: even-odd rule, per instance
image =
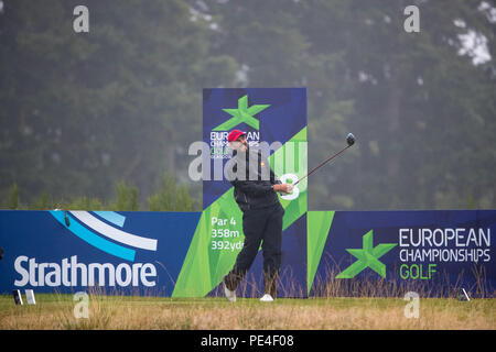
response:
[[[157,251],[155,239],[118,229],[126,221],[126,217],[118,212],[51,210],[50,213],[84,242],[128,262],[134,262],[136,249]],[[20,275],[14,282],[17,287],[153,287],[157,278],[157,267],[152,263],[79,263],[77,255],[62,258],[58,263],[44,263],[35,257],[19,255],[14,270]]]

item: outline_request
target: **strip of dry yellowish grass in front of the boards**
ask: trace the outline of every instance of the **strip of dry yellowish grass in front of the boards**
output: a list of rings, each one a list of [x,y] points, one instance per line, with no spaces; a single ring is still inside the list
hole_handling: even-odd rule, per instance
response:
[[[222,297],[90,295],[88,318],[76,319],[72,295],[36,295],[35,306],[0,296],[0,329],[496,329],[496,300],[420,299],[407,319],[400,298],[309,298],[260,302]]]

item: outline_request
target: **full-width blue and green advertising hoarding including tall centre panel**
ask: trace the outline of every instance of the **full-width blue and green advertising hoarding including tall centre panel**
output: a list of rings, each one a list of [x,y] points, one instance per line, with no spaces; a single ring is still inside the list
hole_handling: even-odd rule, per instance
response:
[[[188,170],[203,182],[202,212],[0,211],[0,294],[94,287],[220,294],[244,243],[242,213],[225,177],[233,153],[227,134],[235,128],[266,154],[281,182],[298,183],[279,196],[285,210],[279,296],[328,295],[334,286],[348,288],[337,294],[362,295],[356,284],[369,283],[374,289],[421,284],[422,295],[451,296],[456,286],[493,295],[496,210],[308,210],[304,88],[204,89],[203,141],[190,147]],[[238,295],[260,296],[262,287],[259,253]]]

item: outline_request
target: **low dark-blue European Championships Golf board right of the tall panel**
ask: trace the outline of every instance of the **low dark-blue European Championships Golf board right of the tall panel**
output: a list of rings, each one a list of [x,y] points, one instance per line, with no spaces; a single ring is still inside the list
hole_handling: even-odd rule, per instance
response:
[[[453,297],[461,287],[494,296],[495,210],[309,211],[308,218],[313,295],[327,285],[360,295],[356,288],[368,282],[382,285],[378,296],[408,287],[424,296]]]

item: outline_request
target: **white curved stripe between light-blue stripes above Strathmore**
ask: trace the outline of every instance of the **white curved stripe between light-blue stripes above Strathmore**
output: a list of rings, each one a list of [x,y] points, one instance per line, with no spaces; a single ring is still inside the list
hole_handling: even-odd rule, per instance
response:
[[[98,220],[87,211],[71,211],[71,213],[80,220],[84,224],[106,235],[117,242],[132,245],[139,249],[157,251],[157,240],[142,238],[122,230],[112,228],[111,226]]]

